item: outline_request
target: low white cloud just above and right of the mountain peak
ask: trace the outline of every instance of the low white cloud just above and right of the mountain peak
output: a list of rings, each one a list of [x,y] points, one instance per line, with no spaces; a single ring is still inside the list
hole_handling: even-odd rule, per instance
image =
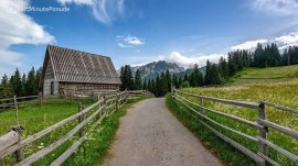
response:
[[[198,64],[199,67],[203,67],[206,65],[206,60],[209,59],[212,63],[219,63],[221,56],[225,56],[223,54],[211,54],[211,55],[199,55],[199,56],[185,56],[178,52],[172,52],[169,55],[164,56],[164,60],[169,63],[175,63],[178,66],[184,68],[192,68],[194,64]]]

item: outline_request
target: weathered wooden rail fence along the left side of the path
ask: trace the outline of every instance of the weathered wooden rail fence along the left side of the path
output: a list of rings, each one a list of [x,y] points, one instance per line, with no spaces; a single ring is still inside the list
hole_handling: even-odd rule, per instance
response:
[[[134,93],[134,95],[131,95]],[[8,155],[15,154],[17,166],[26,166],[35,163],[40,158],[43,158],[45,155],[61,146],[63,143],[68,141],[74,134],[78,133],[79,139],[72,144],[68,150],[66,150],[60,157],[57,157],[51,165],[56,166],[63,164],[78,146],[86,140],[85,136],[86,131],[84,126],[89,123],[92,120],[96,119],[96,122],[91,126],[91,129],[96,128],[100,121],[119,108],[121,108],[128,100],[129,97],[139,96],[139,95],[150,95],[147,91],[123,91],[109,96],[102,96],[98,97],[98,101],[89,106],[88,108],[84,108],[82,104],[78,104],[78,113],[73,114],[56,124],[53,124],[39,133],[35,133],[31,136],[28,136],[24,140],[21,140],[21,128],[12,128],[12,130],[3,136],[0,136],[0,166],[1,159],[7,157]],[[92,110],[95,110],[91,112]],[[110,111],[107,111],[110,110]],[[87,117],[87,113],[91,114]],[[61,126],[70,123],[74,120],[78,120],[78,124],[74,126],[68,133],[61,136],[56,142],[52,143],[51,145],[43,147],[39,152],[30,155],[29,157],[24,158],[23,155],[23,147],[40,140],[44,135],[60,129]],[[17,129],[17,130],[15,130]]]

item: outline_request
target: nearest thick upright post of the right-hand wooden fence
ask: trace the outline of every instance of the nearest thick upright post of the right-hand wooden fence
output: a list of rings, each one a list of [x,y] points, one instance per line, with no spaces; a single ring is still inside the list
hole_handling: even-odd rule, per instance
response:
[[[266,120],[265,103],[263,101],[260,101],[258,104],[258,120]],[[263,126],[258,129],[259,136],[267,140],[268,128],[260,124],[259,121],[257,121],[257,123]],[[259,153],[267,156],[267,145],[259,142],[258,146]]]

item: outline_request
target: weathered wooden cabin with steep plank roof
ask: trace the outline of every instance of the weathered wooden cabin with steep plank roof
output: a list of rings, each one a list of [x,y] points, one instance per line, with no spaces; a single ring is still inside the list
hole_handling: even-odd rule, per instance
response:
[[[88,96],[119,90],[110,57],[47,45],[40,87],[44,96]]]

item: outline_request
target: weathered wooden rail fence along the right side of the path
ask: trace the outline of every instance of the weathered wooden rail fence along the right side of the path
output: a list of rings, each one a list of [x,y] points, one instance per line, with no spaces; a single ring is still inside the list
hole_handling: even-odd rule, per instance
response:
[[[222,139],[225,142],[227,142],[228,144],[231,144],[232,146],[237,148],[240,152],[242,152],[243,154],[245,154],[246,156],[248,156],[253,161],[255,161],[258,165],[263,166],[263,165],[267,165],[268,163],[272,165],[276,165],[276,166],[279,165],[276,161],[274,161],[273,158],[269,158],[268,153],[267,153],[267,151],[268,151],[267,147],[275,150],[276,152],[283,154],[284,156],[286,156],[287,158],[292,161],[295,164],[298,164],[297,154],[294,154],[287,150],[284,150],[283,147],[272,143],[267,139],[267,136],[269,134],[268,128],[270,128],[274,131],[280,132],[283,134],[289,135],[290,137],[294,137],[294,139],[298,139],[298,132],[292,130],[292,129],[289,129],[289,128],[280,125],[280,124],[276,124],[274,122],[268,121],[266,119],[265,106],[274,107],[275,109],[291,112],[294,114],[298,114],[298,110],[283,107],[283,106],[278,106],[278,104],[274,104],[274,103],[270,103],[267,101],[246,102],[246,101],[226,100],[226,99],[206,97],[206,96],[202,96],[202,95],[193,95],[193,93],[184,92],[184,91],[173,89],[173,88],[171,91],[171,96],[172,96],[174,102],[177,102],[179,104],[182,103],[183,104],[183,106],[181,104],[182,107],[185,107],[189,110],[191,110],[191,115],[194,117],[206,129],[209,129],[216,136],[219,136],[220,139]],[[196,98],[196,99],[199,99],[200,102],[194,103],[194,102],[188,100],[185,97]],[[203,104],[203,100],[220,102],[220,103],[224,103],[224,104],[228,104],[228,106],[236,106],[236,107],[241,107],[241,108],[253,109],[253,110],[258,112],[257,121],[256,122],[248,121],[248,120],[242,119],[242,118],[233,115],[233,114],[228,114],[228,113],[224,113],[221,111],[216,111],[216,110],[206,108]],[[207,117],[205,114],[206,111],[212,112],[214,114],[217,114],[220,117],[224,117],[224,118],[237,121],[240,123],[253,126],[253,128],[258,130],[258,135],[254,137],[254,136],[251,136],[251,135],[245,134],[243,132],[231,129],[231,128],[211,119],[210,117]],[[214,128],[209,125],[206,122],[211,122],[211,123],[213,123],[213,124],[215,124],[224,130],[227,130],[227,131],[230,131],[238,136],[242,136],[246,140],[251,140],[253,142],[255,142],[256,144],[258,144],[258,147],[259,147],[258,152],[257,153],[252,152],[251,150],[248,150],[244,145],[242,145],[238,142],[226,136],[224,133],[221,133],[220,131],[215,130]]]

